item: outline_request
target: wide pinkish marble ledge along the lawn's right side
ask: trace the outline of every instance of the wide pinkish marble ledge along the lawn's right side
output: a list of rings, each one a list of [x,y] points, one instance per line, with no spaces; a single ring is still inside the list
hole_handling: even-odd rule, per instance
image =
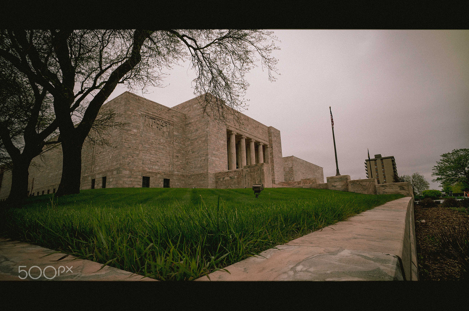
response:
[[[418,280],[413,199],[387,202],[226,269],[210,280]]]

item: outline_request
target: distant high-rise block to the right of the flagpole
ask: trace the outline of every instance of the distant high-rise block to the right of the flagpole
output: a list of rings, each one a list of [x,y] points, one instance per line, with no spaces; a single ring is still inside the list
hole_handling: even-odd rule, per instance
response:
[[[378,184],[397,183],[396,161],[393,156],[375,155],[365,160],[367,178],[376,178]]]

